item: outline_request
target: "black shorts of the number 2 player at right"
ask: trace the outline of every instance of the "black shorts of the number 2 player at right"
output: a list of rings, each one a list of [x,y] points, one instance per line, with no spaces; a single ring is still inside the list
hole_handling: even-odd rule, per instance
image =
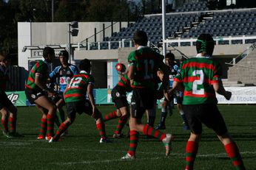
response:
[[[217,135],[227,132],[226,124],[217,105],[183,105],[183,111],[192,132],[202,133],[202,124],[214,130]]]

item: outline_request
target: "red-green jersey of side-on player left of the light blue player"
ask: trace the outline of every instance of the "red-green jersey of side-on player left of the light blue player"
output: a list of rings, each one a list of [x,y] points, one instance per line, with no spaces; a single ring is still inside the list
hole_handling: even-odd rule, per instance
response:
[[[41,82],[46,83],[48,78],[48,65],[46,61],[39,60],[30,70],[30,74],[27,78],[26,88],[30,89],[39,89],[39,87],[35,84],[36,76],[39,76]]]

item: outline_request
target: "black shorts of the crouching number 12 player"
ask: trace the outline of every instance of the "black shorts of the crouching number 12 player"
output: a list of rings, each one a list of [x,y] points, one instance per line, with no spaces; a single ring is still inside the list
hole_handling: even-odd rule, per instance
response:
[[[92,116],[92,105],[89,101],[80,101],[80,102],[68,102],[66,103],[67,107],[67,117],[74,119],[75,114],[86,113],[89,116]]]

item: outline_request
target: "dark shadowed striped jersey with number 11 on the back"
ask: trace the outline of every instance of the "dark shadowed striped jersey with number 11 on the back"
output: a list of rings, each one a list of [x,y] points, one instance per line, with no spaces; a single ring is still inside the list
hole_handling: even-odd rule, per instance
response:
[[[149,47],[138,48],[128,56],[129,65],[135,65],[132,88],[155,89],[156,72],[164,57]]]

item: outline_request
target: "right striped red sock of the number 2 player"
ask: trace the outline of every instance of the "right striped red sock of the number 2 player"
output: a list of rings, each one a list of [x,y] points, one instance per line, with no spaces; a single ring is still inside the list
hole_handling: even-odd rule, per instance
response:
[[[238,170],[246,169],[243,165],[242,157],[240,156],[240,152],[238,146],[235,142],[225,145],[226,153],[229,155],[229,158],[232,160],[233,165]]]

